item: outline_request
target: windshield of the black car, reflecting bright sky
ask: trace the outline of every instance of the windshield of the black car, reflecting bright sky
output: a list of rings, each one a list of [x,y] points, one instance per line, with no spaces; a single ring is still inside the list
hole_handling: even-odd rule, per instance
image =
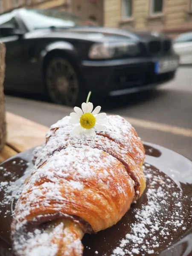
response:
[[[29,30],[96,26],[91,20],[56,9],[20,9],[20,16]]]

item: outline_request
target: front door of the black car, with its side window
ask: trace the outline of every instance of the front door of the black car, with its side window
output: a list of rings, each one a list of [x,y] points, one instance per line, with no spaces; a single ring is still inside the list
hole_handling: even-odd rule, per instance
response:
[[[13,25],[20,29],[13,12],[0,15],[0,26]],[[22,81],[23,67],[23,39],[20,35],[0,35],[0,41],[6,45],[6,73],[4,86],[7,90],[21,90],[24,86]]]

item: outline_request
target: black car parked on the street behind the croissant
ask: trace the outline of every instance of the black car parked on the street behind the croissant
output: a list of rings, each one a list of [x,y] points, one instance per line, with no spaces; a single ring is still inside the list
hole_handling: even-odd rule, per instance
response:
[[[6,44],[6,90],[48,93],[76,105],[93,95],[150,89],[174,78],[178,56],[158,33],[93,25],[56,9],[17,9],[0,15]]]

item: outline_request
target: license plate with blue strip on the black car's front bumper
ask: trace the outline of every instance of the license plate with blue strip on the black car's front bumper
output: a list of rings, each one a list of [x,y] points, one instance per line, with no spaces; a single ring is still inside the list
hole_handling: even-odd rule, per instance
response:
[[[177,67],[178,67],[177,59],[157,61],[155,62],[155,65],[154,65],[154,72],[156,74],[162,74],[162,73],[176,70]]]

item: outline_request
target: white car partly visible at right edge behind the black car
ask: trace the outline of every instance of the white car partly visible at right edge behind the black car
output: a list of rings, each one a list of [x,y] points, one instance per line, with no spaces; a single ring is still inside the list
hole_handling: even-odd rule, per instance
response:
[[[180,56],[180,64],[192,64],[192,32],[179,35],[173,47]]]

